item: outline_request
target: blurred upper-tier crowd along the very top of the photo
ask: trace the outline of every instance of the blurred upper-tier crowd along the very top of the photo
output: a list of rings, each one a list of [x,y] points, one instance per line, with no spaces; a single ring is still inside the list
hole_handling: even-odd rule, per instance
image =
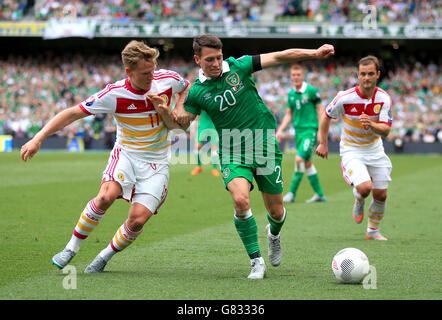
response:
[[[146,21],[239,22],[259,21],[269,0],[1,0],[0,19],[38,20],[74,15],[101,19]],[[124,3],[123,3],[124,2]],[[376,6],[380,23],[440,23],[439,0],[276,0],[276,20],[344,23],[362,21],[364,8]],[[124,5],[123,5],[124,4]]]

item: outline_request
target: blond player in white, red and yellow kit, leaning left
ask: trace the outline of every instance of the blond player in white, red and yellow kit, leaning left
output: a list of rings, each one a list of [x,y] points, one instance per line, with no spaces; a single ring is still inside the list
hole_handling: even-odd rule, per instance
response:
[[[177,105],[184,103],[189,83],[174,71],[156,71],[159,52],[143,42],[129,42],[121,56],[126,79],[57,114],[21,149],[21,158],[27,161],[38,152],[46,137],[91,114],[112,114],[117,123],[117,139],[98,195],[86,204],[65,248],[52,258],[60,269],[77,254],[81,242],[97,227],[112,203],[123,198],[131,202],[128,219],[85,273],[103,271],[115,253],[140,235],[144,224],[158,212],[167,195],[168,131],[181,128],[173,120],[170,103],[174,95]]]

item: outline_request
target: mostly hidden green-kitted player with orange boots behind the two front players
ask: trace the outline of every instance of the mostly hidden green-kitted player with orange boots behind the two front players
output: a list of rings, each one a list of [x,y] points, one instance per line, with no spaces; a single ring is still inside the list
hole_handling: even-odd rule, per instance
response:
[[[197,166],[193,168],[190,174],[192,176],[196,176],[201,171],[203,171],[200,150],[202,149],[204,143],[208,141],[210,144],[212,157],[212,175],[215,177],[219,177],[220,173],[219,170],[216,168],[218,162],[218,133],[216,132],[215,126],[213,125],[213,122],[210,119],[209,115],[204,110],[201,111],[201,114],[196,121],[198,122],[198,128],[196,132]]]

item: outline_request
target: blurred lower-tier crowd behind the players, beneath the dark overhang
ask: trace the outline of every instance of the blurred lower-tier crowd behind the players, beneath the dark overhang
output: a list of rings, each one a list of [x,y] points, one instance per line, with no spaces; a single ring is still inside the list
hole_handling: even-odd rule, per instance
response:
[[[160,67],[176,70],[189,80],[197,75],[193,61],[160,61]],[[326,106],[338,91],[357,84],[353,63],[332,59],[305,64],[306,80],[318,88]],[[393,100],[393,127],[389,139],[442,142],[442,72],[439,61],[398,61],[379,86]],[[32,137],[50,118],[125,77],[118,56],[66,54],[0,60],[0,135]],[[267,106],[281,121],[291,83],[288,67],[255,73],[255,81]],[[337,140],[340,123],[332,125],[330,138]],[[99,138],[115,130],[112,119],[86,117],[59,133]]]

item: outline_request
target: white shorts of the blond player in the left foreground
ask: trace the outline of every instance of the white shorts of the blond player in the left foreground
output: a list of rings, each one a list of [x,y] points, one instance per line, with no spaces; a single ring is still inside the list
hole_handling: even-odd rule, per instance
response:
[[[102,183],[115,181],[121,185],[120,197],[138,202],[156,214],[164,203],[169,186],[169,165],[147,163],[119,147],[111,151]]]

